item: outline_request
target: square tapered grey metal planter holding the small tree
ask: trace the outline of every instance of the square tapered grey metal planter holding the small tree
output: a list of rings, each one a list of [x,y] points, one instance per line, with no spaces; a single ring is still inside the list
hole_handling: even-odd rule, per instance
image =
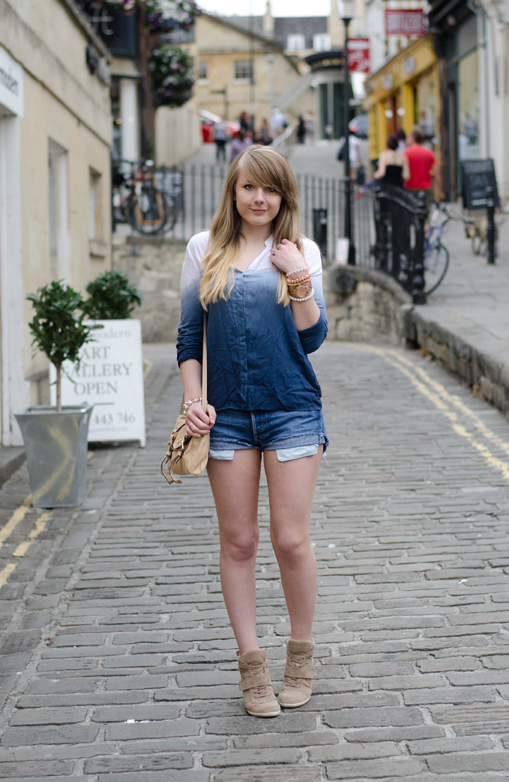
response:
[[[87,434],[93,405],[28,407],[16,415],[36,508],[75,508],[86,497]]]

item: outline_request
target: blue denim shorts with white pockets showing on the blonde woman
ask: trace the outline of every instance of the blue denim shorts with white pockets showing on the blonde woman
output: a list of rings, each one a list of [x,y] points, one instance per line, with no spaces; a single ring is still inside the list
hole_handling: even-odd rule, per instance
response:
[[[276,450],[279,461],[312,456],[329,439],[321,410],[220,410],[211,429],[209,457],[233,459],[235,450]]]

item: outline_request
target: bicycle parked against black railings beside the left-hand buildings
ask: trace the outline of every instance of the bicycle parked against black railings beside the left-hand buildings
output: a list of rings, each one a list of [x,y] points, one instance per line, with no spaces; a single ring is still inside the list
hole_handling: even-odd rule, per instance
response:
[[[113,221],[129,223],[140,234],[162,233],[171,215],[157,187],[153,160],[117,160],[112,167]]]

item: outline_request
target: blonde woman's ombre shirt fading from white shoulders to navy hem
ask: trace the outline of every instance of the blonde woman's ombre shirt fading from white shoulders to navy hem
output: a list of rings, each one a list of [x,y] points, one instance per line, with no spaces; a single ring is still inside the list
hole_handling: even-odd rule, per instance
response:
[[[209,231],[190,240],[181,278],[177,361],[201,363],[204,310],[199,288]],[[216,410],[297,411],[321,407],[321,391],[308,353],[327,335],[322,259],[316,244],[303,239],[319,319],[298,331],[291,307],[277,303],[279,272],[270,260],[273,237],[247,271],[233,270],[226,300],[208,307],[208,401]],[[302,264],[304,266],[305,264]]]

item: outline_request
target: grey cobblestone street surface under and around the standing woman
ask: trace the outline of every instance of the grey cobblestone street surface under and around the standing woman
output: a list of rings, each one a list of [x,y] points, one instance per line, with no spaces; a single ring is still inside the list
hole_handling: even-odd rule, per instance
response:
[[[509,780],[509,425],[421,356],[327,343],[331,439],[312,542],[317,679],[247,716],[206,478],[158,472],[180,399],[145,346],[146,449],[92,452],[88,500],[0,507],[0,778],[24,782]],[[283,469],[282,465],[282,469]],[[288,622],[260,500],[258,620],[280,683]]]

